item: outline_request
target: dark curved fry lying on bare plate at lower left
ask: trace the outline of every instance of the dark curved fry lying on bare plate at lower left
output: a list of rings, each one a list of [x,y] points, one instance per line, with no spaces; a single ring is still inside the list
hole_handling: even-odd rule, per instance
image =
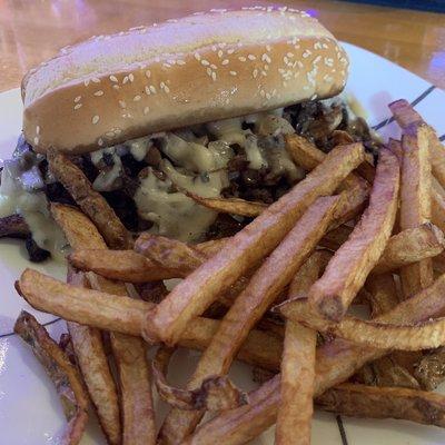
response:
[[[59,394],[68,419],[61,444],[78,444],[88,422],[88,395],[76,366],[31,314],[21,312],[14,332],[31,346]]]

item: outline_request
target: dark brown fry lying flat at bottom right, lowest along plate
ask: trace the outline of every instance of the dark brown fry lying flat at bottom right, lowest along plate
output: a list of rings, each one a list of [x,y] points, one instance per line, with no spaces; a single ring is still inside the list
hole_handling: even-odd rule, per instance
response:
[[[418,389],[342,384],[317,397],[316,404],[344,416],[398,418],[445,427],[445,396]]]

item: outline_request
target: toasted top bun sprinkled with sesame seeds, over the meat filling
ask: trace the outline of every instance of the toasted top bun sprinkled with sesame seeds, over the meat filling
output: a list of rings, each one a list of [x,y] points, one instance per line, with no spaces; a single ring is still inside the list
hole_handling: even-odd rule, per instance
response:
[[[97,150],[155,131],[337,95],[348,60],[295,10],[197,13],[61,50],[22,82],[37,151]]]

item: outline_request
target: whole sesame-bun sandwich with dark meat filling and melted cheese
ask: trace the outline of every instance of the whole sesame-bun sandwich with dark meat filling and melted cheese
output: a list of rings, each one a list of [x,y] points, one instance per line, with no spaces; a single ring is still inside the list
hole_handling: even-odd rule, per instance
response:
[[[79,202],[48,162],[55,152],[82,171],[130,237],[230,236],[250,219],[189,194],[275,201],[305,176],[286,150],[289,134],[324,151],[339,135],[378,146],[343,93],[347,76],[334,36],[287,8],[212,10],[67,47],[22,80],[0,236],[24,238],[34,261],[67,246],[49,204]]]

